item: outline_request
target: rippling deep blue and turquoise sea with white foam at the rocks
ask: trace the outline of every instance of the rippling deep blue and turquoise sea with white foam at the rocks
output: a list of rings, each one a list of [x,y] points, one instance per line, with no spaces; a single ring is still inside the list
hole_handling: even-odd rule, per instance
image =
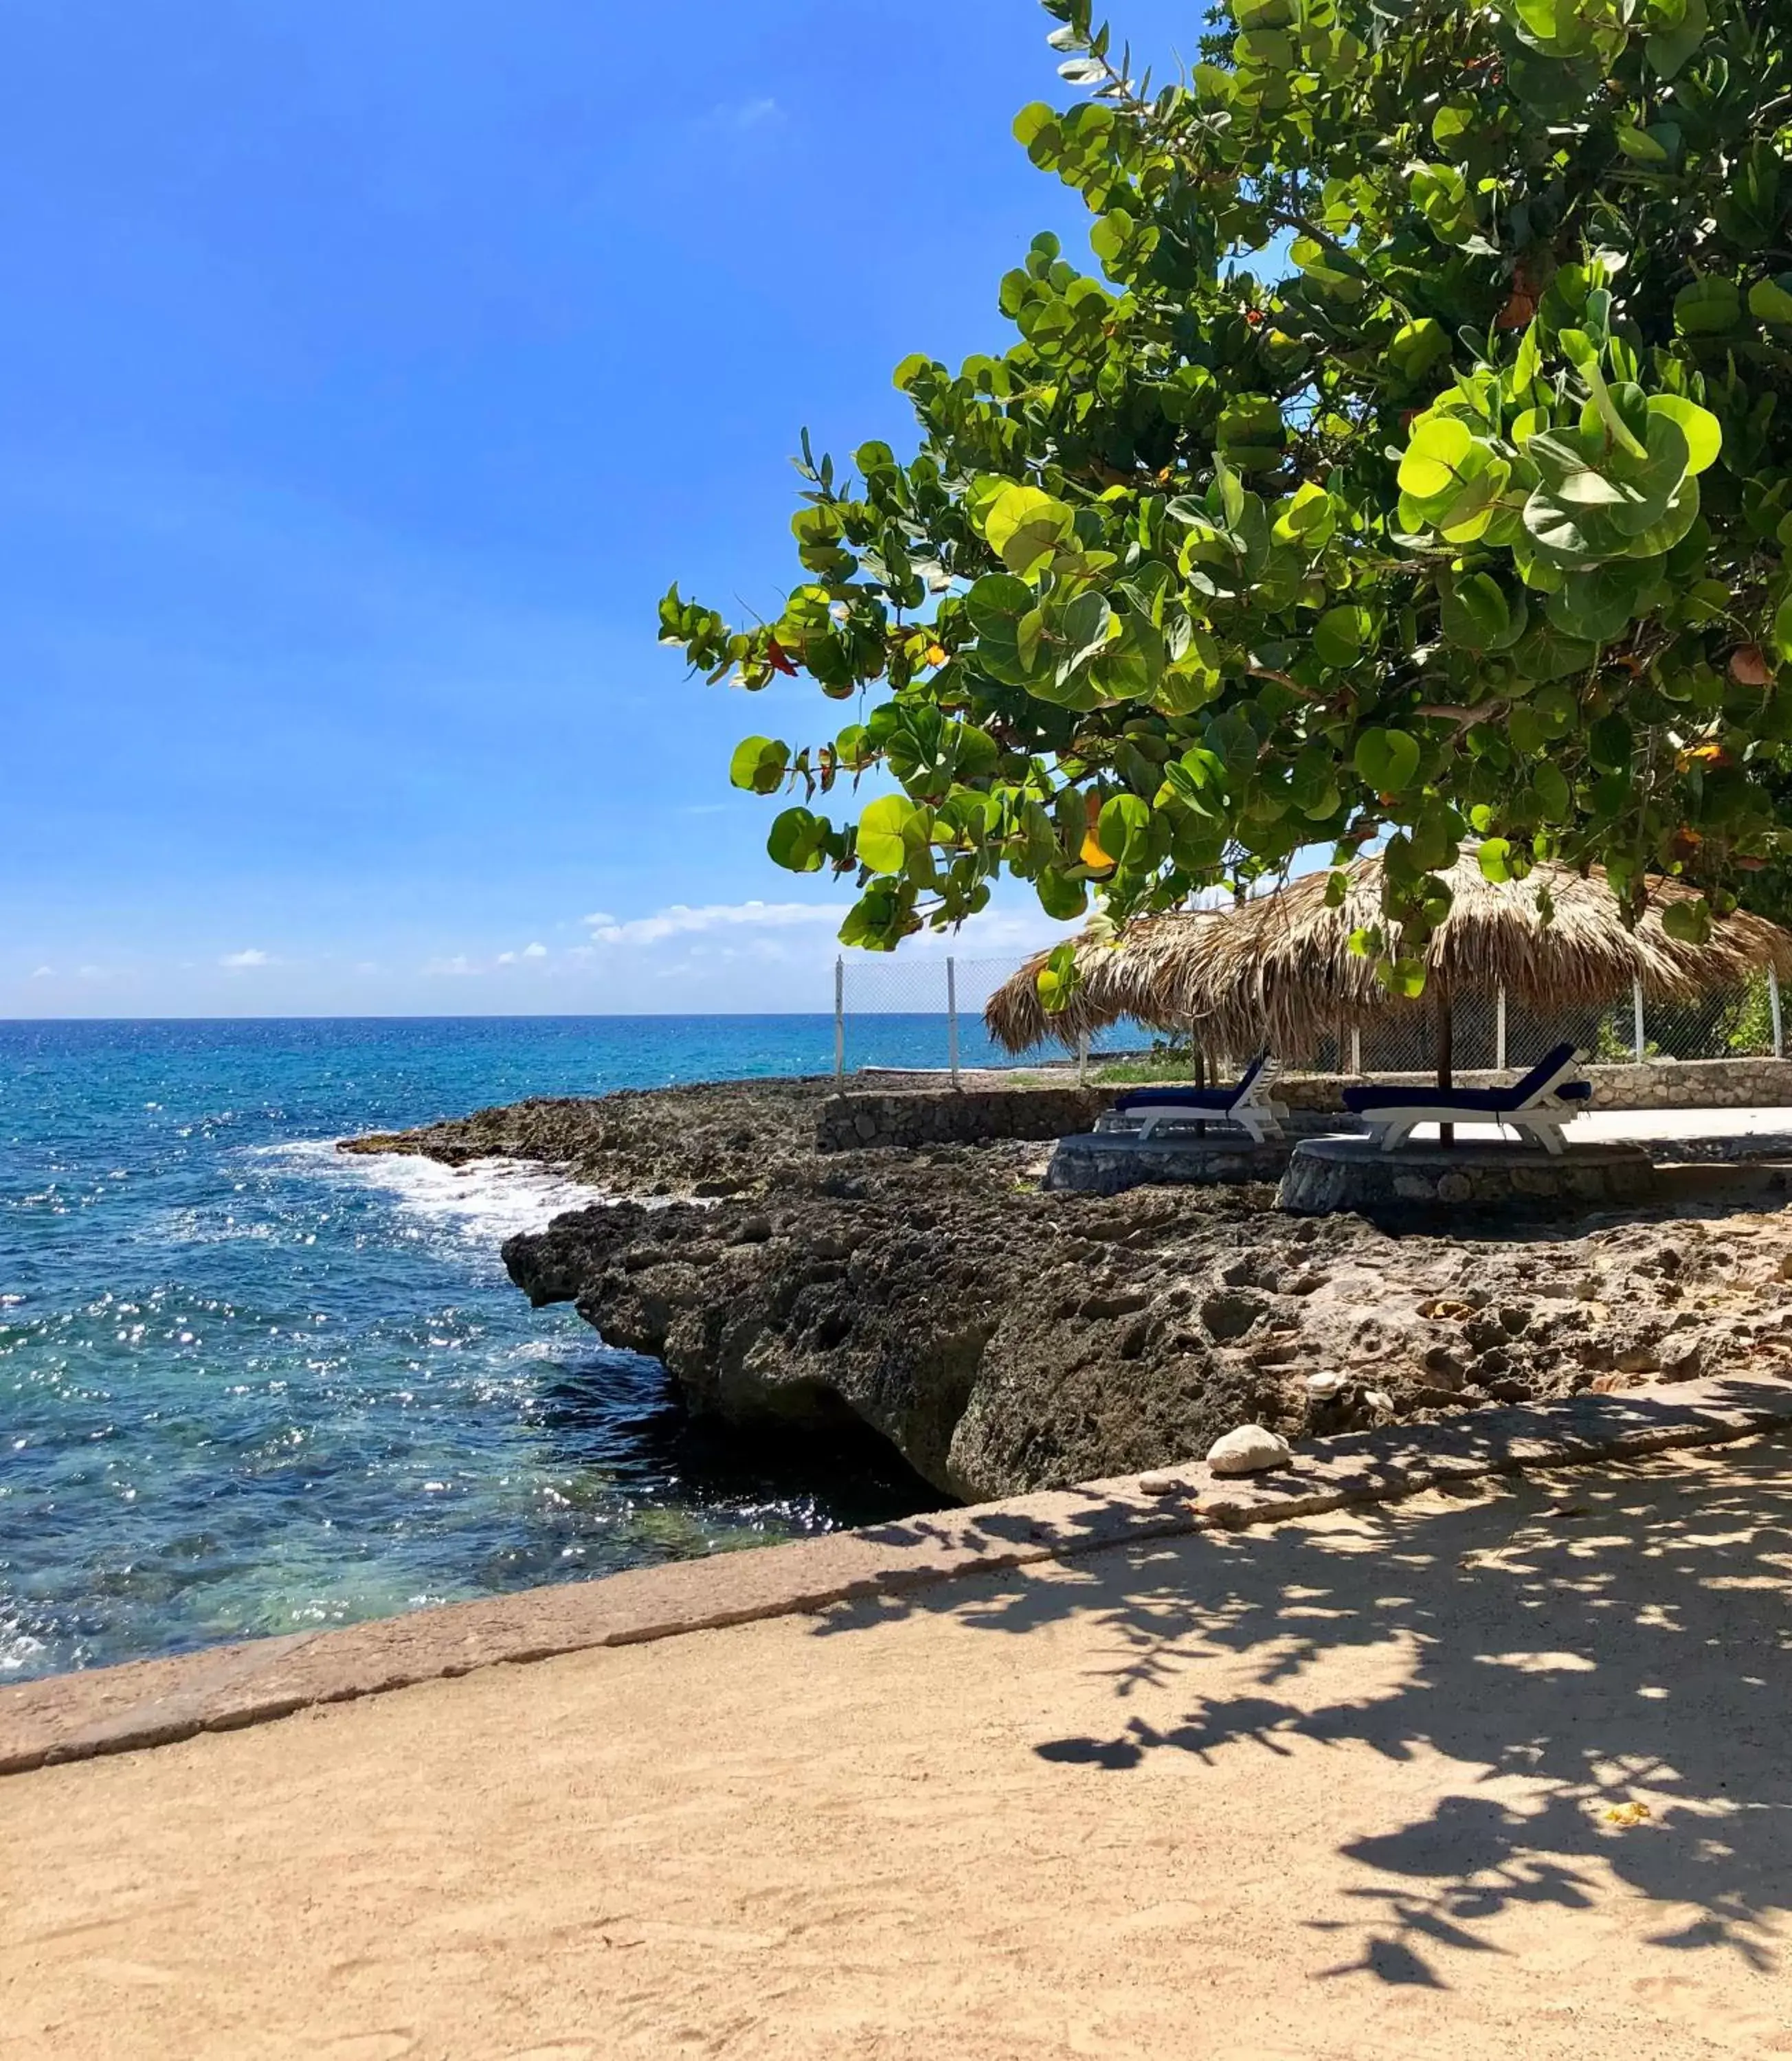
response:
[[[918,1509],[870,1441],[742,1447],[530,1311],[499,1241],[590,1191],[334,1150],[831,1063],[821,1016],[0,1022],[0,1680]]]

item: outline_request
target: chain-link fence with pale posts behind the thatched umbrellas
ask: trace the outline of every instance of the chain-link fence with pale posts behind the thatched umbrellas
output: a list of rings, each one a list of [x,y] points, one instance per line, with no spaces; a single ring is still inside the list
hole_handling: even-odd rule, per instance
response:
[[[1093,1039],[1087,1055],[1072,1057],[1056,1041],[1027,1053],[996,1045],[984,1028],[984,1004],[1029,956],[856,952],[841,958],[835,967],[835,1070],[951,1076],[984,1068],[1054,1068],[1099,1076],[1103,1063],[1132,1070],[1149,1061],[1153,1072],[1192,1072],[1192,1045],[1128,1022]],[[1458,1074],[1522,1070],[1561,1043],[1584,1051],[1594,1066],[1778,1057],[1784,1049],[1780,995],[1771,977],[1761,975],[1691,1002],[1652,1002],[1633,993],[1608,1008],[1536,1012],[1507,995],[1462,995],[1450,1012]],[[1202,1057],[1210,1070],[1223,1070],[1246,1055]],[[1386,1022],[1340,1028],[1314,1051],[1283,1053],[1283,1061],[1297,1074],[1429,1074],[1437,1066],[1437,1024],[1425,1010],[1390,1012]]]

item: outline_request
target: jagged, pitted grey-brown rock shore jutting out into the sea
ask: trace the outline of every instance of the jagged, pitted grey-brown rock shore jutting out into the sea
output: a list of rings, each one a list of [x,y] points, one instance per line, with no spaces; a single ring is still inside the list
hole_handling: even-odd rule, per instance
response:
[[[1287,1218],[1272,1189],[1046,1193],[1048,1148],[815,1148],[829,1082],[534,1101],[349,1142],[553,1167],[606,1200],[509,1239],[536,1303],[660,1358],[693,1410],[856,1418],[942,1496],[1169,1465],[1582,1389],[1778,1373],[1771,1200],[1528,1226]],[[1324,1377],[1324,1379],[1316,1379]]]

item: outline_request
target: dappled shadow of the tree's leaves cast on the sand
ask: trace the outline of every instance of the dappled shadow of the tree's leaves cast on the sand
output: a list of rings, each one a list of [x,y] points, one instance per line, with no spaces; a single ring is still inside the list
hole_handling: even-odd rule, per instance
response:
[[[1448,1987],[1452,1956],[1499,1952],[1483,1931],[1499,1913],[1578,1911],[1613,1878],[1662,1906],[1650,1946],[1765,1972],[1792,1913],[1788,1459],[1773,1434],[1138,1542],[848,1606],[819,1630],[907,1610],[1006,1634],[1093,1622],[1116,1723],[1033,1750],[1116,1779],[1165,1754],[1233,1781],[1254,1756],[1345,1744],[1443,1756],[1460,1785],[1429,1816],[1338,1849],[1359,1915],[1322,1927],[1349,1948],[1328,1976]],[[1316,1669],[1349,1649],[1394,1649],[1386,1692],[1322,1694]],[[1248,1692],[1200,1694],[1215,1659],[1241,1659]],[[1476,1795],[1514,1775],[1522,1801]]]

